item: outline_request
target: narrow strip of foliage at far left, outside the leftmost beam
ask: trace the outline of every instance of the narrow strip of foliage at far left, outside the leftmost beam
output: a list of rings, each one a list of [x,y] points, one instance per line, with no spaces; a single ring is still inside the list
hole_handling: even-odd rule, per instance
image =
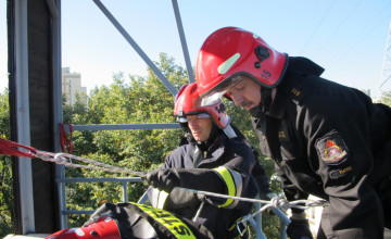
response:
[[[0,137],[10,138],[9,92],[0,93]],[[13,193],[11,158],[0,155],[0,238],[13,232]]]

